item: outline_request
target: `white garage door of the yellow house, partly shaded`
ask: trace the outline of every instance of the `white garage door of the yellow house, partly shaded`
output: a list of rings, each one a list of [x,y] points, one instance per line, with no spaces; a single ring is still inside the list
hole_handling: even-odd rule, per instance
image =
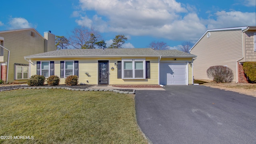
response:
[[[187,84],[186,62],[161,62],[160,84]]]

